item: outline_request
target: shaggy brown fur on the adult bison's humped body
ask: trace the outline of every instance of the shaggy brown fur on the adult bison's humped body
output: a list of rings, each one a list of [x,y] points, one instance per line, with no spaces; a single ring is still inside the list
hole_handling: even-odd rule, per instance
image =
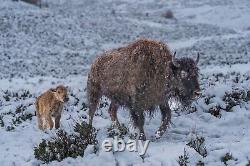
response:
[[[105,95],[116,98],[119,104],[126,105],[133,100],[129,96],[136,97],[138,91],[143,90],[141,85],[148,84],[146,93],[154,97],[144,98],[147,94],[137,96],[141,98],[140,105],[148,109],[152,103],[160,104],[158,101],[163,94],[159,94],[157,89],[165,86],[164,73],[168,71],[167,62],[170,60],[171,54],[165,44],[147,39],[138,40],[97,58],[89,74],[87,89],[90,95],[97,93],[99,97]]]

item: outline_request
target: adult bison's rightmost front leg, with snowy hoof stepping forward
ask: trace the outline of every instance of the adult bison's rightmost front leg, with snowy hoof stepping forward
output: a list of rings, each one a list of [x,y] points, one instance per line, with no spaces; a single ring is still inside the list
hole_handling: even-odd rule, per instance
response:
[[[161,137],[165,133],[171,121],[171,109],[169,108],[169,106],[160,105],[160,110],[161,110],[162,119],[161,119],[161,126],[158,128],[158,130],[155,133],[157,138]]]

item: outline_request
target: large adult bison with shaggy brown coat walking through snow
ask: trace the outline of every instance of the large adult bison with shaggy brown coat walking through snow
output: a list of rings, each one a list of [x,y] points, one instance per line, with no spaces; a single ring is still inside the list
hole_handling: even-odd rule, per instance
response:
[[[111,100],[111,120],[119,124],[117,109],[129,108],[139,139],[144,135],[144,111],[159,106],[162,119],[157,130],[161,136],[171,120],[168,100],[176,97],[183,105],[189,105],[200,94],[197,63],[190,58],[175,59],[162,42],[139,39],[125,47],[103,53],[93,63],[87,82],[89,124],[99,99]]]

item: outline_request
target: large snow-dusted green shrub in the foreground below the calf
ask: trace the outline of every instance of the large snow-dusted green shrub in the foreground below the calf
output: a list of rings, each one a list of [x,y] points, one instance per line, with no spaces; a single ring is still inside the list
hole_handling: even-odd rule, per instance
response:
[[[74,131],[74,134],[68,134],[63,130],[59,130],[56,137],[51,140],[42,140],[34,148],[35,158],[44,163],[54,160],[62,161],[67,157],[83,156],[89,144],[97,145],[97,130],[86,122],[76,123]]]

